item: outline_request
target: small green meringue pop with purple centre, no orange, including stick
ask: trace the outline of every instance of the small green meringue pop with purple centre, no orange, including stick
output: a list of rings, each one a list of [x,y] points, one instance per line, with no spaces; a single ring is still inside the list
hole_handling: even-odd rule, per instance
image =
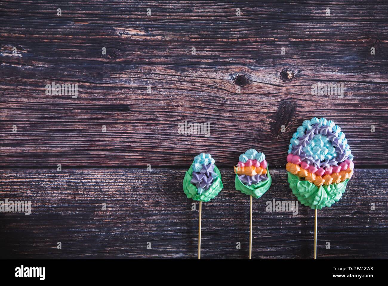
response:
[[[199,201],[198,259],[201,259],[201,215],[202,202],[209,202],[222,190],[220,170],[210,154],[201,153],[194,157],[183,179],[183,191],[187,198]]]

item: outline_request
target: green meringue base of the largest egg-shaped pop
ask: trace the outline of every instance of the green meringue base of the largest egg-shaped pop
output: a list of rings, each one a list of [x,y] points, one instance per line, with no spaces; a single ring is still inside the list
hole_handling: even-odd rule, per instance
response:
[[[322,207],[331,207],[338,202],[345,192],[346,184],[349,179],[343,182],[322,185],[319,188],[309,181],[302,181],[300,177],[288,173],[288,182],[292,193],[298,198],[298,201],[312,209],[322,209]]]

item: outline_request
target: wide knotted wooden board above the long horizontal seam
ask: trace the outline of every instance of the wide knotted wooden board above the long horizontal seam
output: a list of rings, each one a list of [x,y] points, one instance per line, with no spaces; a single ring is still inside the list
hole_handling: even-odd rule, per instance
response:
[[[183,167],[206,151],[229,166],[252,147],[282,166],[292,133],[313,116],[341,126],[356,165],[387,165],[385,1],[6,1],[0,8],[2,167]],[[52,81],[78,84],[78,98],[46,95]],[[318,82],[343,84],[344,97],[312,96]],[[210,123],[210,137],[178,134],[185,120]]]

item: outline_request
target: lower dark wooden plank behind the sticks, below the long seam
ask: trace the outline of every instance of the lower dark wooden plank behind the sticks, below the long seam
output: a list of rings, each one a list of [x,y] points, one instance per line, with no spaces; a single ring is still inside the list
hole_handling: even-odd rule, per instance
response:
[[[249,196],[225,188],[202,209],[201,258],[248,258]],[[1,199],[31,200],[32,212],[0,213],[2,258],[196,258],[198,209],[182,191],[184,169],[5,169]],[[286,171],[253,202],[253,259],[312,258],[314,211],[267,212],[295,200]],[[318,211],[318,258],[388,258],[388,170],[357,169],[339,202]],[[372,181],[374,180],[374,181]],[[102,204],[107,204],[102,211]],[[371,210],[371,203],[376,209]],[[198,207],[198,204],[197,204]],[[57,249],[57,242],[62,249]],[[151,249],[147,249],[151,242]],[[236,243],[241,242],[241,249]],[[331,249],[326,249],[330,242]]]

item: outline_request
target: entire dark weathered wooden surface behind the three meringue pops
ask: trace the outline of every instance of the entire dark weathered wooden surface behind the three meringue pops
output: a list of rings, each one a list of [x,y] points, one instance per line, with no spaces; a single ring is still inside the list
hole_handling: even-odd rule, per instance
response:
[[[203,204],[202,258],[247,258],[249,197],[232,165],[256,148],[273,185],[254,203],[253,258],[312,258],[314,212],[265,202],[294,200],[289,139],[324,116],[357,170],[319,211],[318,258],[388,258],[387,13],[386,1],[0,1],[0,199],[32,203],[30,216],[0,213],[0,256],[196,258],[182,181],[208,152],[225,188]],[[78,98],[46,95],[52,81],[78,84]],[[318,82],[344,97],[312,96]],[[185,120],[210,137],[178,134]]]

